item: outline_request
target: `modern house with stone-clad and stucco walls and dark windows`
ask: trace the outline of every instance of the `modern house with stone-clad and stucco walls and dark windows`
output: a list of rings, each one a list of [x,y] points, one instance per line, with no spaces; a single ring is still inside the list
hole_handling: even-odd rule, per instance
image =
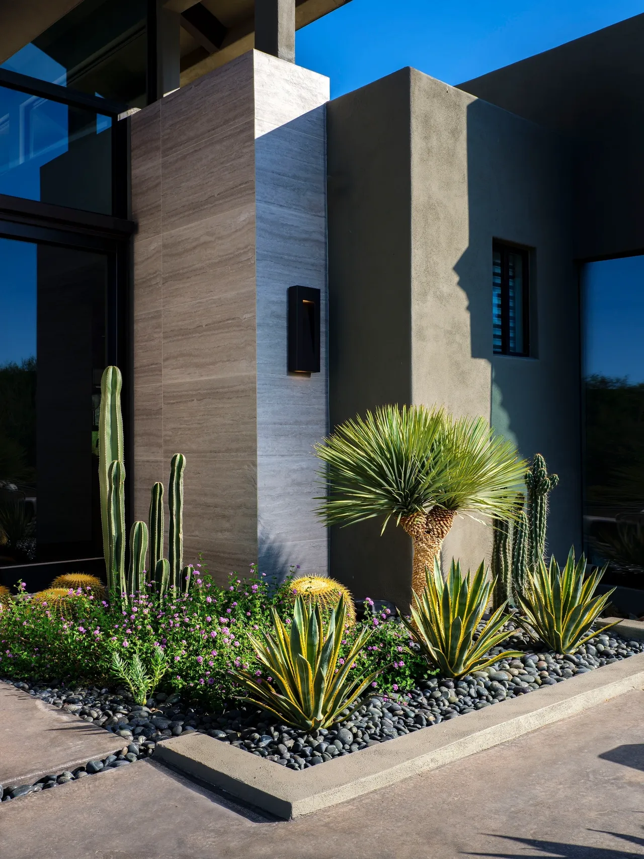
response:
[[[583,284],[644,253],[644,15],[459,87],[403,69],[330,101],[295,27],[341,4],[258,0],[256,27],[242,0],[0,7],[0,397],[35,404],[2,418],[0,503],[36,522],[0,545],[4,582],[100,569],[106,363],[130,518],[184,453],[185,554],[220,580],[299,565],[409,600],[404,533],[314,513],[313,444],[386,403],[544,454],[557,555],[585,515],[616,521],[589,514]],[[444,554],[489,548],[459,518]]]

